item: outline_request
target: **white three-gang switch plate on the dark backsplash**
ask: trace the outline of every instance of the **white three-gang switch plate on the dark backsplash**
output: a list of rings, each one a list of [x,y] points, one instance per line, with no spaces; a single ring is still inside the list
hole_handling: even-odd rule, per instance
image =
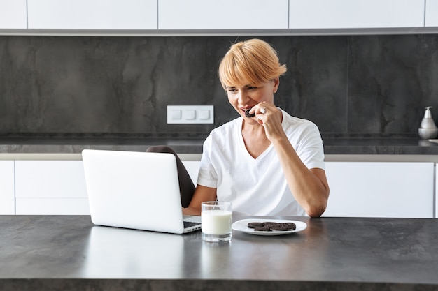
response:
[[[176,112],[181,112],[181,115]],[[167,124],[213,124],[213,121],[213,105],[167,106]]]

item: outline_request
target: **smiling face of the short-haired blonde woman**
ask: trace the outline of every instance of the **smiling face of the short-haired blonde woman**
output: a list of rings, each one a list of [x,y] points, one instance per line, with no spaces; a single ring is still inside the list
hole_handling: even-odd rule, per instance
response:
[[[257,86],[250,84],[239,86],[225,86],[229,103],[234,109],[239,112],[241,117],[248,119],[245,116],[246,110],[252,108],[260,102],[274,104],[274,93],[278,89],[278,78]]]

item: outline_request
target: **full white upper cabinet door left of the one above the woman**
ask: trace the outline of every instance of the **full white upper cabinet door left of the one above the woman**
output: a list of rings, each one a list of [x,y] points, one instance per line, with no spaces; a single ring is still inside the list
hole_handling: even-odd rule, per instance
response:
[[[157,0],[28,0],[29,29],[157,29]]]

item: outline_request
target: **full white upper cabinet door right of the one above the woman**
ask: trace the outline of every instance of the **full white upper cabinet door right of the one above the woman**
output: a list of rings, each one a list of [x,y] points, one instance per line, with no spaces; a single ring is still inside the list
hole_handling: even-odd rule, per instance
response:
[[[423,27],[424,1],[290,0],[290,29]]]

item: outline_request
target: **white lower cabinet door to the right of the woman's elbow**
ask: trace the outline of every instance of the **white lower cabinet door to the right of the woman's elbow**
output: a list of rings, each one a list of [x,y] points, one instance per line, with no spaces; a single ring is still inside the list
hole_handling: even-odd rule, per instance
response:
[[[323,216],[432,218],[433,163],[325,163],[330,197]]]

